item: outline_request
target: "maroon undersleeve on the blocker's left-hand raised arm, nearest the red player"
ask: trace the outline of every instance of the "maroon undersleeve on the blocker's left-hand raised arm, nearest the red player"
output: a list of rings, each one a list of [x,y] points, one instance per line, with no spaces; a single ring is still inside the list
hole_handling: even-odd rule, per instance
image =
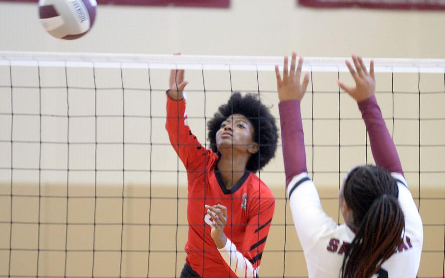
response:
[[[282,101],[278,107],[280,110],[281,141],[287,188],[294,176],[308,171],[306,168],[306,150],[300,101]]]

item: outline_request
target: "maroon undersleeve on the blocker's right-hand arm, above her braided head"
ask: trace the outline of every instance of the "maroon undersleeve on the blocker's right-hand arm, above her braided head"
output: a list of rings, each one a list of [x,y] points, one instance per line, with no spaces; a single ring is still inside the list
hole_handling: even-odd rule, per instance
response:
[[[368,130],[371,151],[377,166],[403,174],[396,146],[386,128],[376,96],[358,102],[358,108]]]

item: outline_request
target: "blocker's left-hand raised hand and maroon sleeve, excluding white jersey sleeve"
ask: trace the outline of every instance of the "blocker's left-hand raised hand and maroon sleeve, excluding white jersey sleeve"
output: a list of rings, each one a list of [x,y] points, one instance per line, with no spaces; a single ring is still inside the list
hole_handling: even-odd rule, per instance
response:
[[[290,71],[288,72],[288,57],[284,58],[283,78],[278,66],[275,66],[277,77],[278,105],[281,121],[281,141],[283,144],[284,170],[286,173],[286,188],[293,177],[307,172],[306,151],[304,147],[303,123],[301,121],[300,101],[309,83],[309,74],[300,84],[303,58],[298,60],[295,70],[296,53],[292,53]]]

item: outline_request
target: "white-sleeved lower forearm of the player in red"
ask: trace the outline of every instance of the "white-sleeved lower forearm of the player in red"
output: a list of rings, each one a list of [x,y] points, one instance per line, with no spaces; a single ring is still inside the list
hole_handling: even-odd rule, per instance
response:
[[[229,239],[225,246],[218,249],[226,264],[238,277],[256,277],[257,269],[240,252],[236,250],[235,244]]]

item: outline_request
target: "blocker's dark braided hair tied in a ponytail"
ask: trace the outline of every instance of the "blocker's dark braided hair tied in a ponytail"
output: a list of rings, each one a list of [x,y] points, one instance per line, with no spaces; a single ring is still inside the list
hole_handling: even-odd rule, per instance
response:
[[[357,232],[340,274],[342,278],[370,278],[401,242],[405,220],[397,199],[399,188],[385,169],[360,166],[349,173],[343,195]]]

